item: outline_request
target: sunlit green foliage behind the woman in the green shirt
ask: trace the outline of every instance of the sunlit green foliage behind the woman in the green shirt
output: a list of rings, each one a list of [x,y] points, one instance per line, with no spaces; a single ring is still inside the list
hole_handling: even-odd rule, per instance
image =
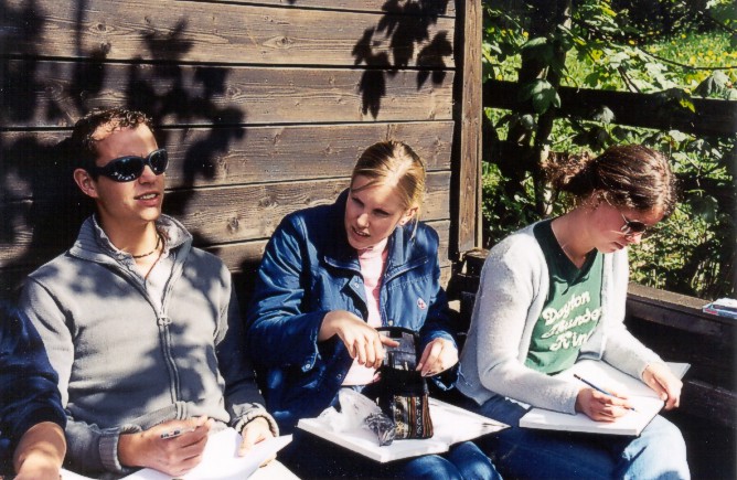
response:
[[[560,106],[551,75],[563,85],[656,93],[650,114],[662,118],[694,111],[693,97],[737,100],[735,2],[581,0],[575,2],[569,24],[541,30],[535,19],[553,18],[558,3],[484,1],[484,79],[516,82],[526,65],[543,67],[520,85],[520,99],[533,114],[487,109],[492,138],[508,143],[508,150],[485,150],[493,152],[485,159],[483,179],[487,246],[541,215],[563,212],[555,192],[546,195],[552,200],[544,212],[536,209],[538,168],[520,162],[515,168],[526,169],[521,173],[503,167],[510,161],[503,158],[509,143],[524,151],[525,139],[542,135],[540,116]],[[568,52],[565,64],[556,54],[560,51]],[[632,277],[702,298],[734,295],[728,271],[735,263],[737,135],[705,138],[616,121],[606,107],[586,119],[556,118],[549,137],[536,142],[564,152],[597,153],[615,143],[644,143],[666,152],[681,180],[682,202],[658,235],[632,248]]]

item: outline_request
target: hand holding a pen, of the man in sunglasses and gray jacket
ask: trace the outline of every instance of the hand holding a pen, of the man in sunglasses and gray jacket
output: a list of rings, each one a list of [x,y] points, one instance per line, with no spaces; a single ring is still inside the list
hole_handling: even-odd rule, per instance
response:
[[[120,435],[118,458],[126,467],[149,467],[177,477],[202,461],[213,420],[207,417],[169,420],[137,434]],[[162,438],[162,435],[178,433]]]

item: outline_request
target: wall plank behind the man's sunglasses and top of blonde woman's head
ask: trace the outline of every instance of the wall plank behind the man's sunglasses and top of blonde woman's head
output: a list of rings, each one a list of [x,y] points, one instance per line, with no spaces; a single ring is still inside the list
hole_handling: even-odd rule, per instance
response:
[[[167,186],[217,186],[349,177],[363,150],[383,140],[403,140],[425,160],[428,171],[450,169],[451,121],[281,127],[157,129],[169,151]],[[58,193],[64,131],[0,132],[6,201]],[[67,186],[75,189],[66,182]]]

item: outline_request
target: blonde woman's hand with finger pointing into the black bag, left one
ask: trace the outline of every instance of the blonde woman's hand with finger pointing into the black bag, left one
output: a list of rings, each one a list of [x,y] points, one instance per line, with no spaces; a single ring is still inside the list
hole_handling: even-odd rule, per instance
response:
[[[384,361],[384,345],[397,346],[399,343],[384,335],[346,310],[333,310],[325,314],[318,334],[319,341],[333,335],[340,337],[351,358],[357,359],[361,365],[378,369]]]

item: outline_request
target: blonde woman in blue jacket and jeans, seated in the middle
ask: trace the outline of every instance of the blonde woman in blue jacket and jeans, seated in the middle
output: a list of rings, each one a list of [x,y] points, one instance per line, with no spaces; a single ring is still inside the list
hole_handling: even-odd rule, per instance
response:
[[[384,344],[392,342],[378,327],[419,332],[418,370],[438,384],[437,375],[458,362],[439,282],[438,235],[417,221],[424,193],[419,157],[404,143],[380,142],[361,156],[334,204],[288,215],[271,236],[248,313],[249,353],[282,431],[318,416],[341,388],[374,382]],[[471,442],[442,457],[382,466],[295,435],[279,458],[301,478],[496,476]]]

